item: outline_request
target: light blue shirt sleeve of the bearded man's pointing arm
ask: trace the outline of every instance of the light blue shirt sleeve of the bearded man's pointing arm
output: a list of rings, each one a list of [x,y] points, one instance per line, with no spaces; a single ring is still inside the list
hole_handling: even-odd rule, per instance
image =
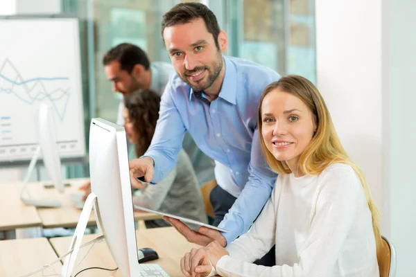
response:
[[[155,161],[152,184],[164,179],[175,167],[185,131],[182,118],[172,99],[171,84],[168,84],[160,102],[159,119],[152,143],[144,154]]]

